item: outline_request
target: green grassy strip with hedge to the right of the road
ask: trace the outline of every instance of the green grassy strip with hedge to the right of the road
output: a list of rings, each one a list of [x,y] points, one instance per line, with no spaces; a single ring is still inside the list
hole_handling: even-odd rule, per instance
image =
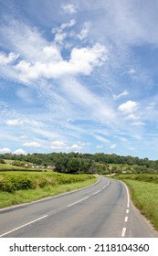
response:
[[[130,189],[134,205],[158,230],[158,175],[117,176]]]

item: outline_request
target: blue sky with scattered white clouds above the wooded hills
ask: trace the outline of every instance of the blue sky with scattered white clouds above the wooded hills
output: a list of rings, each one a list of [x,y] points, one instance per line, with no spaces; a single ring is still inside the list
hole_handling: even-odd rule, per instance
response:
[[[0,0],[0,154],[158,159],[158,1]]]

